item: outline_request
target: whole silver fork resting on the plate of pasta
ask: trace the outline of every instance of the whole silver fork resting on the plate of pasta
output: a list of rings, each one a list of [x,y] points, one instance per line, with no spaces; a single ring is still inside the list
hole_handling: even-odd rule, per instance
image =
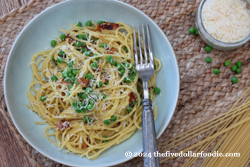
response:
[[[146,39],[145,39],[143,24],[142,24],[142,38],[143,38],[143,44],[144,44],[144,56],[142,54],[139,25],[137,25],[137,31],[138,31],[139,50],[140,50],[140,63],[138,62],[136,32],[135,32],[135,27],[133,27],[135,64],[136,64],[136,70],[138,71],[139,77],[142,79],[142,82],[143,82],[143,93],[144,93],[144,99],[142,100],[143,153],[144,155],[150,155],[150,156],[144,156],[143,161],[144,161],[144,167],[158,167],[159,159],[158,157],[154,155],[154,153],[156,154],[157,152],[157,140],[156,140],[156,133],[155,133],[154,113],[152,109],[152,101],[151,99],[149,99],[149,93],[148,93],[148,80],[154,74],[154,59],[153,59],[148,24],[146,24],[146,31],[147,31],[147,40],[148,40],[149,61],[148,61],[148,55],[147,55]]]

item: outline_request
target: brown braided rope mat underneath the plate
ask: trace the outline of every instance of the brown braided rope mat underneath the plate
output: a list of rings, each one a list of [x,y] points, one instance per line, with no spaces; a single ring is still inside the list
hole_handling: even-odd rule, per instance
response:
[[[0,18],[0,111],[13,131],[18,143],[23,148],[33,166],[64,166],[58,164],[34,150],[18,133],[7,111],[3,98],[3,73],[12,44],[23,27],[37,14],[61,0],[32,0],[29,4],[13,10]],[[194,11],[200,0],[122,0],[146,13],[163,30],[175,51],[180,69],[180,95],[176,111],[167,130],[158,140],[162,143],[181,132],[226,112],[250,86],[249,44],[230,51],[213,50],[207,54],[206,46],[197,36],[189,35],[188,29],[194,26]],[[210,56],[213,61],[205,63]],[[223,62],[229,59],[232,64],[243,62],[242,73],[233,74]],[[213,74],[213,69],[220,68],[220,75]],[[171,72],[171,71],[169,71]],[[232,85],[231,78],[237,76],[239,82]],[[171,78],[169,81],[171,82]],[[167,112],[167,111],[166,111]],[[202,137],[201,137],[202,138]],[[196,142],[200,139],[193,139]],[[188,143],[187,143],[188,144]],[[176,150],[187,144],[178,146]],[[162,152],[162,148],[159,148]],[[185,159],[176,158],[162,166],[181,166]],[[195,162],[199,166],[202,159]],[[142,166],[142,158],[134,158],[119,166]]]

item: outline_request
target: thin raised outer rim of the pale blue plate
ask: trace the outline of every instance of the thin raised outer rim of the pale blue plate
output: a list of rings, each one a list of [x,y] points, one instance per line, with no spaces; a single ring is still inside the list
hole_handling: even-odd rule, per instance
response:
[[[15,125],[15,128],[18,130],[19,134],[25,139],[25,141],[26,141],[28,144],[30,144],[36,151],[38,151],[38,152],[41,153],[42,155],[48,157],[49,159],[51,159],[51,160],[53,160],[53,161],[55,161],[55,162],[58,162],[58,163],[63,164],[63,165],[68,165],[68,166],[71,166],[71,164],[61,162],[61,161],[55,159],[54,157],[47,155],[47,154],[44,153],[43,151],[37,149],[37,147],[36,147],[32,142],[30,142],[30,141],[26,138],[26,136],[22,133],[22,131],[19,129],[19,127],[17,126],[17,123],[16,123],[16,121],[15,121],[13,115],[12,115],[12,112],[11,112],[11,110],[10,110],[10,107],[9,107],[9,102],[8,102],[7,93],[6,93],[6,92],[7,92],[7,90],[6,90],[6,85],[7,85],[6,76],[7,76],[7,75],[6,75],[6,74],[7,74],[7,72],[8,72],[8,71],[7,71],[7,67],[9,66],[9,61],[10,61],[10,57],[11,57],[11,55],[12,55],[14,46],[16,45],[16,43],[17,43],[18,39],[20,38],[21,34],[26,30],[26,28],[27,28],[35,19],[37,19],[38,17],[41,17],[41,15],[43,15],[45,12],[50,11],[50,10],[52,10],[54,7],[59,6],[59,5],[61,5],[61,4],[70,3],[70,2],[73,2],[73,1],[74,1],[74,0],[62,1],[62,2],[59,2],[59,3],[57,3],[57,4],[54,4],[54,5],[52,5],[52,6],[48,7],[48,8],[46,8],[45,10],[43,10],[42,12],[40,12],[39,14],[37,14],[33,19],[31,19],[31,20],[28,22],[28,24],[26,24],[26,25],[24,26],[24,28],[22,29],[22,31],[18,34],[17,38],[15,39],[15,41],[14,41],[12,47],[11,47],[11,50],[10,50],[10,52],[9,52],[9,54],[8,54],[7,61],[6,61],[6,64],[5,64],[5,70],[4,70],[4,78],[3,78],[3,81],[4,81],[4,82],[3,82],[3,83],[4,83],[4,84],[3,84],[3,87],[4,87],[4,99],[5,99],[6,106],[7,106],[9,115],[10,115],[10,117],[11,117],[11,120],[12,120],[13,124]],[[98,0],[97,0],[97,1],[98,1]],[[102,0],[102,1],[103,1],[103,0]],[[175,55],[175,53],[174,53],[173,47],[172,47],[171,43],[169,42],[167,36],[164,34],[164,32],[162,31],[162,29],[161,29],[161,28],[160,28],[160,27],[159,27],[159,26],[158,26],[149,16],[147,16],[144,12],[142,12],[141,10],[135,8],[134,6],[129,5],[129,4],[127,4],[127,3],[125,3],[125,2],[122,2],[122,1],[118,1],[118,0],[104,0],[104,1],[106,1],[106,2],[107,2],[107,1],[112,1],[112,2],[115,2],[115,3],[120,3],[120,4],[122,4],[122,5],[125,5],[125,6],[129,7],[129,8],[132,8],[133,10],[135,10],[135,11],[139,12],[140,14],[142,14],[144,17],[146,17],[151,23],[153,23],[153,24],[157,27],[157,29],[159,30],[159,32],[160,32],[160,33],[163,35],[163,37],[166,39],[168,45],[171,46],[170,51],[171,51],[172,54],[174,55],[174,60],[175,60],[174,62],[175,62],[175,66],[176,66],[177,74],[178,74],[178,80],[177,80],[177,81],[178,81],[178,84],[177,84],[178,95],[176,96],[176,99],[175,99],[175,105],[174,105],[174,106],[175,106],[175,107],[174,107],[174,111],[175,111],[176,106],[177,106],[177,102],[178,102],[178,97],[179,97],[179,94],[180,94],[180,72],[179,72],[179,66],[178,66],[178,61],[177,61],[176,55]],[[84,2],[84,1],[83,1],[83,2]],[[157,135],[157,139],[159,139],[160,136],[162,135],[162,133],[167,129],[167,127],[168,127],[168,125],[169,125],[169,123],[170,123],[170,121],[171,121],[171,119],[172,119],[172,117],[173,117],[174,111],[173,111],[172,114],[171,114],[171,117],[170,117],[170,120],[169,120],[168,124],[165,126],[165,128],[163,128],[161,131],[159,131],[159,133],[158,133],[158,135]],[[143,151],[143,150],[141,150],[140,152],[142,152],[142,151]],[[132,156],[132,157],[130,157],[130,158],[127,158],[127,159],[125,159],[125,160],[122,160],[122,161],[119,162],[119,163],[113,163],[113,164],[111,163],[109,166],[118,165],[118,164],[127,162],[127,161],[129,161],[129,160],[131,160],[131,159],[133,159],[133,158],[135,158],[135,157]],[[85,167],[88,167],[88,166],[85,166]]]

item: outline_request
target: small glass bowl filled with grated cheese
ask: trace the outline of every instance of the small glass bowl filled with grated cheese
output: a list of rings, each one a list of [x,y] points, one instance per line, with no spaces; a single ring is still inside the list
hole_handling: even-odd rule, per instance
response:
[[[195,24],[201,39],[219,50],[233,50],[250,39],[248,0],[202,0]]]

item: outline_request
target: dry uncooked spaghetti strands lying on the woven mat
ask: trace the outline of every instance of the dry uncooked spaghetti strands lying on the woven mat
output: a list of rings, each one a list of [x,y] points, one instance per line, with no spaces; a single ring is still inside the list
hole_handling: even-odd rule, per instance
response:
[[[184,132],[164,143],[161,147],[164,151],[171,150],[176,146],[187,143],[194,138],[199,138],[201,134],[208,134],[201,141],[184,148],[183,153],[193,151],[196,153],[215,151],[228,154],[230,156],[206,157],[200,166],[248,166],[250,161],[250,88],[232,106],[232,108],[187,132]],[[243,99],[245,99],[243,101]],[[213,144],[217,140],[217,144]],[[234,154],[234,156],[232,156]],[[237,156],[236,156],[237,155]],[[229,158],[230,157],[230,158]],[[161,162],[175,157],[164,158]],[[199,157],[189,158],[183,166],[192,166]]]

